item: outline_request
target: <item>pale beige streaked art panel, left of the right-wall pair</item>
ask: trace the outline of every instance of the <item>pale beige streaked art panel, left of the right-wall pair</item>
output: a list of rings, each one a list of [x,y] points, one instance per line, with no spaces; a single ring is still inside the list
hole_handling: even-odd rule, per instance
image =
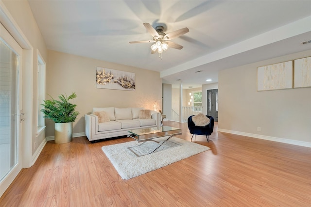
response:
[[[293,88],[293,61],[257,68],[257,91]]]

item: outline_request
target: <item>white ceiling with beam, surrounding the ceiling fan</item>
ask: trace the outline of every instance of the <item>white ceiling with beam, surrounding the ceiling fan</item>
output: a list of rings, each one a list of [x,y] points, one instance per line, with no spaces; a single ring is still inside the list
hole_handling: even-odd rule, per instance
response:
[[[218,71],[311,49],[310,0],[29,0],[47,48],[161,72],[184,88],[218,82]],[[151,54],[144,22],[184,46]],[[101,65],[104,66],[104,65]],[[196,71],[202,72],[195,73]]]

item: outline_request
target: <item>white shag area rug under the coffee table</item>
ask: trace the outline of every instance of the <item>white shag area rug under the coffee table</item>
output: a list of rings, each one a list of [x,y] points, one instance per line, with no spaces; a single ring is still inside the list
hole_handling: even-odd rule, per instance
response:
[[[157,142],[163,142],[166,139],[167,137],[162,137],[155,140]],[[150,171],[172,164],[173,162],[189,158],[210,149],[209,147],[201,144],[172,137],[154,153],[137,157],[131,150],[128,149],[128,147],[135,147],[139,144],[141,143],[132,141],[102,147],[102,150],[110,159],[122,179],[130,179],[138,175],[143,175]],[[143,144],[144,148],[142,151],[145,151],[147,145],[154,147],[155,144],[155,142],[147,141]]]

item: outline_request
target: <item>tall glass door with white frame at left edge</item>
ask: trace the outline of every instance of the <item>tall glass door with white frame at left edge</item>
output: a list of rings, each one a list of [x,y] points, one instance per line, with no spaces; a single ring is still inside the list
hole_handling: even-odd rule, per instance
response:
[[[0,25],[0,195],[21,170],[22,51]]]

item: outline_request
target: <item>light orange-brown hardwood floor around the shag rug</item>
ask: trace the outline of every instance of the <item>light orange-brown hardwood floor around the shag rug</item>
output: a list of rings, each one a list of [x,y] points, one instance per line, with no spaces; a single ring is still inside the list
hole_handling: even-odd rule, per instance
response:
[[[181,127],[189,140],[187,124]],[[122,180],[104,145],[48,142],[35,165],[23,169],[0,198],[1,207],[311,207],[311,148],[214,132],[211,148],[153,172]],[[194,139],[194,138],[193,138]]]

